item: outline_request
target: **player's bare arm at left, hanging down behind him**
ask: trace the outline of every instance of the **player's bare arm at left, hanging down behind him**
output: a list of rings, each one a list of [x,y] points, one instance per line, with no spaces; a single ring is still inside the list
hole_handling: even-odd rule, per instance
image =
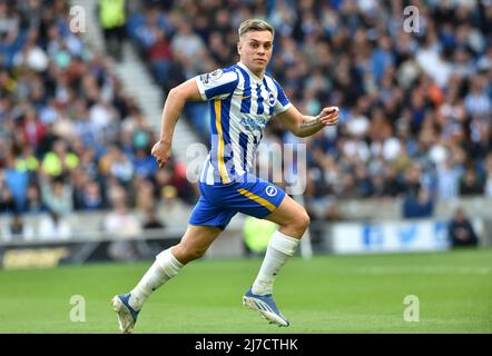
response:
[[[183,82],[169,91],[163,110],[160,138],[159,141],[154,145],[151,151],[152,156],[156,157],[159,168],[166,165],[171,156],[173,135],[185,103],[187,101],[203,100],[195,78]]]

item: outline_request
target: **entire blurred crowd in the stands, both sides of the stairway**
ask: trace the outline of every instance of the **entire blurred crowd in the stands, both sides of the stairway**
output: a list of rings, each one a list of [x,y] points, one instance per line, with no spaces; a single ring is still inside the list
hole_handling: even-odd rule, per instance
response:
[[[275,120],[264,138],[306,142],[312,217],[340,218],[337,199],[395,197],[405,217],[423,217],[436,199],[492,196],[492,3],[412,1],[417,19],[405,30],[409,4],[131,1],[126,29],[167,92],[235,63],[243,20],[269,21],[269,72],[291,101],[314,116],[341,109],[337,127],[308,139]],[[194,204],[184,164],[158,170],[149,156],[158,132],[114,59],[91,52],[68,23],[66,1],[0,0],[0,214],[105,209],[126,192],[139,209],[163,195]],[[204,140],[207,111],[185,109]]]

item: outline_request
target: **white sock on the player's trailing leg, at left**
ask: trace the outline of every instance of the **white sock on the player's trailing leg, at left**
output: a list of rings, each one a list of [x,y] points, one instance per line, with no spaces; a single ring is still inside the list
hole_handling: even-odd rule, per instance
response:
[[[184,265],[173,256],[170,248],[156,256],[156,261],[141,277],[138,285],[130,291],[129,304],[135,310],[140,310],[148,296],[179,273]]]

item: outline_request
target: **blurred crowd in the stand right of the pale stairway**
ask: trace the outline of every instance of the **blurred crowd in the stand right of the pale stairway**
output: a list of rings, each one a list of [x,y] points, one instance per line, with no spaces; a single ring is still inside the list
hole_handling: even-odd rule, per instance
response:
[[[168,91],[236,62],[252,17],[276,29],[269,72],[296,107],[341,108],[337,128],[306,140],[314,217],[337,218],[336,199],[400,196],[405,217],[425,217],[436,199],[492,196],[490,1],[147,1],[127,28]],[[187,108],[205,134],[204,112]],[[275,120],[267,131],[301,141]]]

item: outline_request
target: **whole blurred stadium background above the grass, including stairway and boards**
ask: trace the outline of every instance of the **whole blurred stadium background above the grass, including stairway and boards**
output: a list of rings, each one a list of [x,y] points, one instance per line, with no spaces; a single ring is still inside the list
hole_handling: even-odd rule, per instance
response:
[[[264,137],[306,145],[304,256],[492,244],[490,0],[0,0],[1,266],[176,244],[199,196],[186,151],[207,145],[209,116],[186,106],[158,169],[166,95],[237,62],[253,17],[276,30],[268,71],[289,100],[340,107],[307,139],[275,120]],[[238,215],[207,256],[262,254],[273,229]]]

